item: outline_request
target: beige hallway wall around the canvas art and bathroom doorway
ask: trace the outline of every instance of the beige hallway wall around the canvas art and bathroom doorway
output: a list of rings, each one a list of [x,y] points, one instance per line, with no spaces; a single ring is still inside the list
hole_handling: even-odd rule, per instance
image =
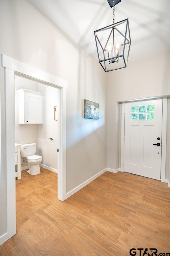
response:
[[[66,189],[69,192],[107,167],[107,74],[96,59],[29,0],[0,1],[0,33],[0,54],[68,82]],[[7,231],[4,73],[1,66],[0,237]],[[84,99],[99,103],[100,119],[83,118]]]

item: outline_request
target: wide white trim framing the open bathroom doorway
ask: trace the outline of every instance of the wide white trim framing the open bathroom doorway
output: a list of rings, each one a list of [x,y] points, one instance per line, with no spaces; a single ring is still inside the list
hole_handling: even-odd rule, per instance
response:
[[[58,199],[66,199],[66,91],[67,81],[36,69],[2,54],[5,68],[5,124],[6,124],[6,177],[7,177],[7,233],[0,242],[4,243],[16,234],[15,209],[15,75],[36,80],[59,88],[58,93]],[[1,237],[2,238],[2,237]],[[1,243],[1,244],[2,244]]]

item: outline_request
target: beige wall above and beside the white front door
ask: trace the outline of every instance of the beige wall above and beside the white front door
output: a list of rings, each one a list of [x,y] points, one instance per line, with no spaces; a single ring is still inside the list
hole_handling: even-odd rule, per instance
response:
[[[127,68],[108,72],[107,167],[118,169],[118,102],[170,95],[170,51],[128,63]],[[167,130],[167,133],[169,131]],[[167,137],[167,144],[169,144]],[[167,155],[166,162],[169,161]],[[168,163],[166,164],[168,166]],[[165,178],[170,179],[169,169]]]

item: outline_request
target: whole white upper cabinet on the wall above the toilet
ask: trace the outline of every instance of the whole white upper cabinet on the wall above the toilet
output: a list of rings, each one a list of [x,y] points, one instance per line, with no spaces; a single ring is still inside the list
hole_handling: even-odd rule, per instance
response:
[[[26,89],[18,90],[19,123],[44,122],[44,94]]]

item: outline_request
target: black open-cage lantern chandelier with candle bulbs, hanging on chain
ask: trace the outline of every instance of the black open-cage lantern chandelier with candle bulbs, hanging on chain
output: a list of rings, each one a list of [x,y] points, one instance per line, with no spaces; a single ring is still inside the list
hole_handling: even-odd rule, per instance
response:
[[[127,66],[131,44],[129,21],[114,23],[114,6],[115,0],[113,24],[94,31],[99,63],[105,72]]]

